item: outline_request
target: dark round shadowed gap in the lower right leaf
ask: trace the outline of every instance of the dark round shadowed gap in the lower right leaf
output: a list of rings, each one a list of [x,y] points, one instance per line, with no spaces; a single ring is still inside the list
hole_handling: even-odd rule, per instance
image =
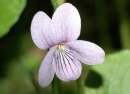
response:
[[[103,84],[101,75],[93,70],[90,70],[85,85],[91,88],[98,88]]]

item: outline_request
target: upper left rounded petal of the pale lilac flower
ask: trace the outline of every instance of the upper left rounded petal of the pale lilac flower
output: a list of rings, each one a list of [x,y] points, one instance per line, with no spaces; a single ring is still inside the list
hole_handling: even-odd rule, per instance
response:
[[[58,44],[52,20],[42,11],[37,12],[32,20],[31,35],[36,46],[42,50]]]

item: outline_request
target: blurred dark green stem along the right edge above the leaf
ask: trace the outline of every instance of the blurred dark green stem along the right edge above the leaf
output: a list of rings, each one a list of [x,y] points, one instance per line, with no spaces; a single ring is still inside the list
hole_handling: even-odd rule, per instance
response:
[[[130,49],[130,27],[128,20],[128,12],[126,10],[126,0],[116,0],[117,12],[119,15],[119,31],[121,45],[124,49]]]

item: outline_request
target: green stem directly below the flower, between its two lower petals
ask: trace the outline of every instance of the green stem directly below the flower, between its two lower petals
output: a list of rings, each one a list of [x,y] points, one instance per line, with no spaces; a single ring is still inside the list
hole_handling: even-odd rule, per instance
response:
[[[52,81],[52,94],[59,94],[59,79],[54,76],[54,79]]]

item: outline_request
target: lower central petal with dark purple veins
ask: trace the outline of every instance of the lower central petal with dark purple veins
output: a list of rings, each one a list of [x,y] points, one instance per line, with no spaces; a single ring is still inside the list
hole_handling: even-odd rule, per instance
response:
[[[57,50],[53,58],[56,75],[63,81],[76,80],[81,74],[81,64],[74,54],[64,46],[63,51]]]

